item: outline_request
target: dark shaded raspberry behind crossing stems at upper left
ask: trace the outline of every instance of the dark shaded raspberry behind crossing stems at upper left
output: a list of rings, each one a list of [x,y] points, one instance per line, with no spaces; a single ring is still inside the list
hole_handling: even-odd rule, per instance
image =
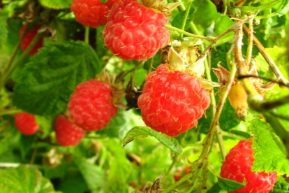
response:
[[[22,38],[26,29],[27,24],[24,24],[24,26],[20,29],[20,38]],[[25,51],[28,48],[31,41],[33,41],[33,39],[37,35],[39,29],[40,25],[35,25],[30,31],[27,32],[26,36],[24,36],[20,44],[23,51]],[[35,55],[36,52],[38,52],[38,49],[42,47],[43,47],[43,37],[40,37],[39,40],[34,45],[34,47],[30,50],[29,55],[31,56]]]

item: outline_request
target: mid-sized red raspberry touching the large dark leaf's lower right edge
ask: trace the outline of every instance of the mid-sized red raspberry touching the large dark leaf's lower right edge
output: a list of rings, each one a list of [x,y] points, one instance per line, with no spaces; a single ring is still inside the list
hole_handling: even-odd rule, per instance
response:
[[[77,85],[68,103],[71,119],[87,131],[107,127],[117,114],[111,91],[110,85],[96,79]]]

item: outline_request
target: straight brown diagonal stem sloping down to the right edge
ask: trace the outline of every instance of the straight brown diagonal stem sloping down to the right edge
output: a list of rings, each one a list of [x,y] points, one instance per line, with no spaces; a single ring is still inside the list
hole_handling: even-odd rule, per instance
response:
[[[246,36],[249,36],[249,29],[248,29],[248,27],[246,27],[246,25],[243,25],[243,31],[244,31],[244,34],[246,34]],[[267,61],[269,66],[271,67],[277,80],[281,80],[281,82],[283,82],[285,84],[289,83],[288,80],[286,80],[286,78],[284,78],[283,74],[281,73],[279,67],[275,64],[272,57],[265,50],[262,43],[260,43],[260,41],[258,41],[258,38],[256,38],[255,36],[253,36],[253,43],[254,43],[255,47],[258,49],[258,51],[261,53],[261,55],[264,57],[264,59]]]

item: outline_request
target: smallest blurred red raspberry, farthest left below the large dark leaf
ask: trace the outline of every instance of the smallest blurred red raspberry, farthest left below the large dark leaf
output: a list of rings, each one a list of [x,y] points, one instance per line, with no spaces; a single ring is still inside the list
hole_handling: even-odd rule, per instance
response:
[[[39,129],[34,115],[29,113],[17,113],[15,115],[15,127],[24,135],[34,135]]]

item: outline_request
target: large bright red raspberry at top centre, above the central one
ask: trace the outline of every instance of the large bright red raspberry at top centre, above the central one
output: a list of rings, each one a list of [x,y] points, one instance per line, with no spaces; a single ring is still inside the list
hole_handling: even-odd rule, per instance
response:
[[[165,24],[168,20],[163,13],[137,0],[119,1],[108,13],[103,31],[105,44],[122,59],[148,59],[170,41]]]

